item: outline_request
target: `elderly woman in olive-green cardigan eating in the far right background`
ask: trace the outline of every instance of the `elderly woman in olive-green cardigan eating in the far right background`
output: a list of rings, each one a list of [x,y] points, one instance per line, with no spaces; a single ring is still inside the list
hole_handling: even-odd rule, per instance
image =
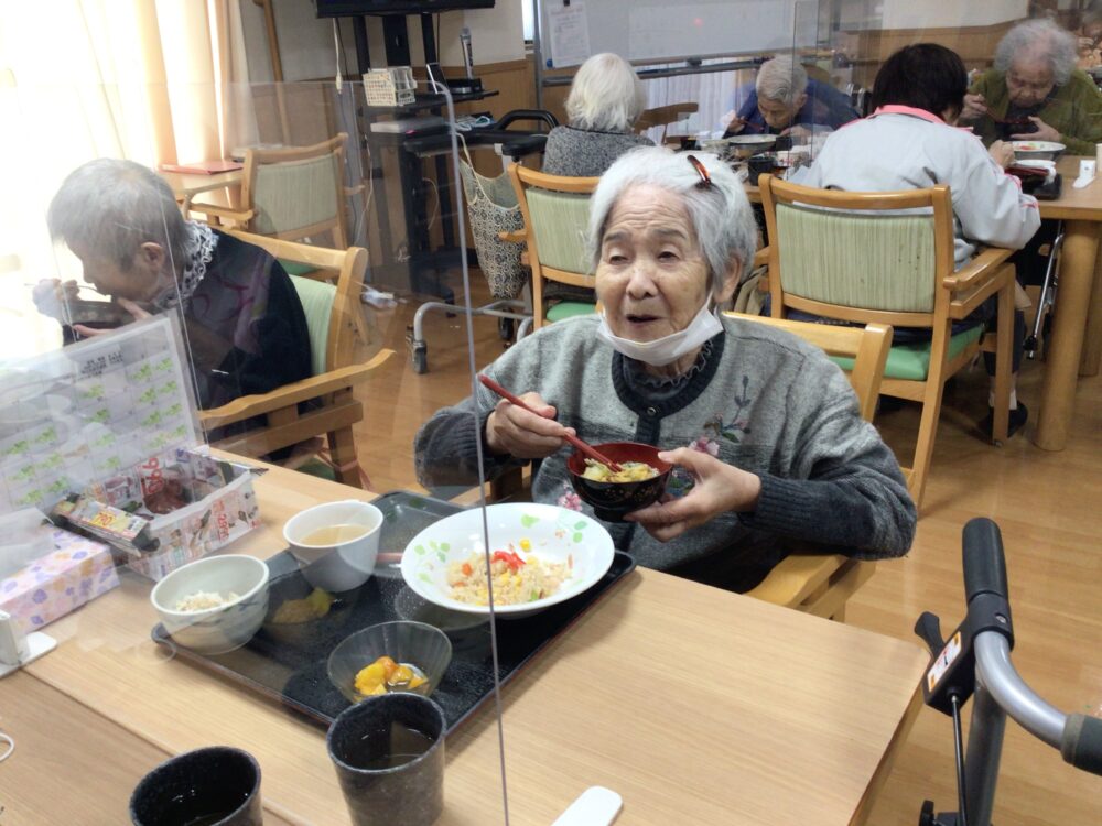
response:
[[[1102,142],[1102,93],[1081,69],[1074,36],[1050,20],[1014,26],[995,50],[995,65],[964,98],[961,122],[984,143],[1000,139],[1057,141],[1076,155]]]

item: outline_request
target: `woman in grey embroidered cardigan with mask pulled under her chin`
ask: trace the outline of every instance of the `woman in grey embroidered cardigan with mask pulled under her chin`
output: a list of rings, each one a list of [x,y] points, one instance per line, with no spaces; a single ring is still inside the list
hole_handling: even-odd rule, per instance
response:
[[[480,442],[487,477],[531,461],[536,501],[580,509],[563,436],[645,442],[679,467],[674,498],[609,525],[642,565],[746,590],[795,544],[905,553],[915,506],[842,371],[715,314],[755,235],[742,183],[714,156],[624,155],[591,208],[604,314],[544,327],[486,369],[541,415],[483,388],[433,415],[415,439],[422,483],[476,482]]]

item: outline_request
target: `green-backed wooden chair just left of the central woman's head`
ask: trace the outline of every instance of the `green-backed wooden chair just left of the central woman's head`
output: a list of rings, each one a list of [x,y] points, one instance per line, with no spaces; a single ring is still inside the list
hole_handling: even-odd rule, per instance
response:
[[[509,164],[509,178],[517,192],[525,228],[509,240],[528,246],[527,262],[532,268],[532,326],[593,313],[595,304],[564,301],[550,311],[544,298],[545,282],[593,290],[595,279],[585,254],[585,231],[590,219],[590,195],[601,178],[548,175],[520,164]]]

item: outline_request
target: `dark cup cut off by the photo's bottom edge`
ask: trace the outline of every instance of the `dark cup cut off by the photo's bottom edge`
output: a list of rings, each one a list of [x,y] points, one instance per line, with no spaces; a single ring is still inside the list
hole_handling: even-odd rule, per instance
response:
[[[261,826],[260,767],[229,746],[174,757],[134,789],[130,820],[134,826]]]

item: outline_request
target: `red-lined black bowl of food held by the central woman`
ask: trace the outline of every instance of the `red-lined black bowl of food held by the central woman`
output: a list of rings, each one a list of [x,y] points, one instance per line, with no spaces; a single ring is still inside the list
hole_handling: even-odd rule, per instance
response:
[[[666,492],[673,466],[658,458],[658,448],[638,442],[608,442],[594,447],[620,466],[620,472],[580,452],[566,460],[570,481],[597,519],[623,522],[624,515],[657,502]]]

